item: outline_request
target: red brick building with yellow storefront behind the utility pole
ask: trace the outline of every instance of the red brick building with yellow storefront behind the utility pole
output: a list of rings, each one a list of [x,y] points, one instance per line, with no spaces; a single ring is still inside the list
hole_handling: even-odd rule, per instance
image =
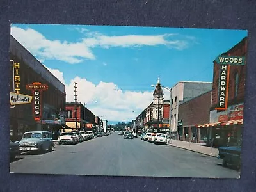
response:
[[[92,111],[86,108],[80,102],[77,102],[77,116],[76,116],[75,102],[66,102],[66,129],[65,131],[97,131],[99,126],[99,118],[97,118]],[[77,122],[77,127],[76,127]]]

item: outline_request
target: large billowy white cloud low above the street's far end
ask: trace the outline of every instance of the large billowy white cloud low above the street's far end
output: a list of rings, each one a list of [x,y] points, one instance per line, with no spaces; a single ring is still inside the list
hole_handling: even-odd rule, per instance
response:
[[[65,84],[67,102],[74,102],[74,82],[77,83],[77,100],[86,103],[94,115],[106,115],[107,120],[132,120],[152,102],[153,92],[124,92],[114,83],[101,81],[93,84],[81,77],[75,77]]]

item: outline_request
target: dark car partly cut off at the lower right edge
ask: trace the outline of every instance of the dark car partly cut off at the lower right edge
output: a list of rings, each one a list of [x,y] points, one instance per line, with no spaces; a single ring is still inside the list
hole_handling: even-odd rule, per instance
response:
[[[241,156],[241,141],[234,146],[219,147],[218,158],[222,159],[222,165],[233,164],[240,167],[240,156]]]

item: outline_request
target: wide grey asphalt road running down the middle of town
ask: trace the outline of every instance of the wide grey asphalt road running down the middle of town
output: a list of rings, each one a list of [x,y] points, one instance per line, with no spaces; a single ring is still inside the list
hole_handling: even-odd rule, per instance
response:
[[[10,163],[13,173],[119,175],[147,177],[228,177],[239,172],[221,159],[140,138],[125,140],[117,132],[77,145],[56,145],[52,152],[25,154]]]

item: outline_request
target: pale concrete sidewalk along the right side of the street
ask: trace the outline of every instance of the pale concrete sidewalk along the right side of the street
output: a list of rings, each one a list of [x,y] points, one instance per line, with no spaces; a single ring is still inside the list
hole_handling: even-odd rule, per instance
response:
[[[189,143],[187,141],[171,140],[171,142],[168,143],[168,145],[173,147],[184,148],[186,150],[198,152],[200,154],[205,154],[207,156],[218,157],[218,148],[207,147],[205,145],[200,145],[200,143]]]

